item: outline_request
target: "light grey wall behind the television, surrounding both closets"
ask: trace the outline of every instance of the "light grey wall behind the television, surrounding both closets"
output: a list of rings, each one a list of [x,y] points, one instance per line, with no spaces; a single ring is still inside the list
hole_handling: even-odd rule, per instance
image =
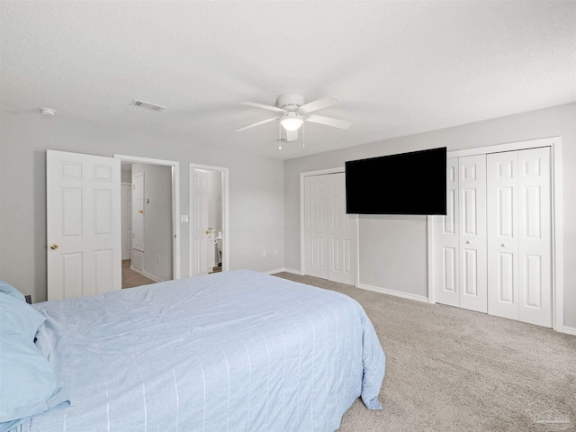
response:
[[[451,151],[555,136],[563,139],[564,325],[576,329],[576,103],[285,161],[285,266],[300,270],[301,172],[423,148]],[[361,284],[428,297],[426,217],[362,215],[359,231]]]

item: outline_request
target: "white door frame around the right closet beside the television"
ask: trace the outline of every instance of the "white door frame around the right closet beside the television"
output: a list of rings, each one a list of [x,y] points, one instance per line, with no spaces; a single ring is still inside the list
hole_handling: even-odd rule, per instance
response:
[[[494,146],[449,151],[446,157],[487,155],[527,148],[551,148],[552,197],[552,326],[564,331],[564,253],[563,253],[563,158],[562,137],[531,139]],[[434,224],[440,216],[428,216],[428,302],[436,303],[434,290]]]

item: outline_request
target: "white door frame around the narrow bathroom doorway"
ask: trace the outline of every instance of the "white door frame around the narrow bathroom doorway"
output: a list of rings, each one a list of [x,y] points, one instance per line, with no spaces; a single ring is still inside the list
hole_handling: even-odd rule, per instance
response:
[[[188,214],[193,215],[193,170],[205,169],[208,171],[220,171],[222,173],[222,272],[230,269],[229,254],[229,168],[225,166],[211,166],[190,164],[188,175]],[[193,232],[188,229],[188,277],[193,276]]]

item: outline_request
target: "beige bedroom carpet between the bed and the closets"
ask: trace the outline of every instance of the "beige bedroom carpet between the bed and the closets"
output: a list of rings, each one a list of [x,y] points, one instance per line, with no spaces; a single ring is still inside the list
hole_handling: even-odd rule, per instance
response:
[[[576,431],[576,337],[312,276],[276,276],[346,293],[378,333],[383,410],[357,400],[339,431]]]

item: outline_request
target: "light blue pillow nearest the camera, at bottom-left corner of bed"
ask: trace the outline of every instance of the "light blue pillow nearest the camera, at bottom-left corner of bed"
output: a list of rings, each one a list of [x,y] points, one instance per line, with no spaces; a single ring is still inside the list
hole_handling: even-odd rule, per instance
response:
[[[56,407],[68,406],[48,359],[31,340],[0,334],[0,432]]]

